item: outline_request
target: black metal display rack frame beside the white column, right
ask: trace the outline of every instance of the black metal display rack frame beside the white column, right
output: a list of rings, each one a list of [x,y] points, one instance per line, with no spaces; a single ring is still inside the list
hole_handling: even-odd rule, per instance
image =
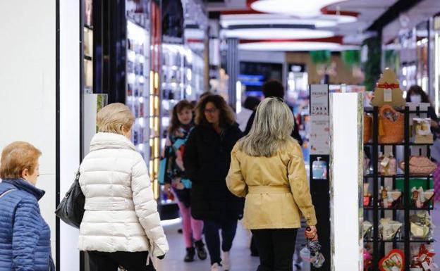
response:
[[[410,205],[410,180],[413,178],[417,179],[425,179],[427,189],[434,189],[432,186],[432,175],[410,175],[410,156],[413,155],[421,155],[422,148],[426,148],[426,156],[430,158],[429,147],[431,144],[415,144],[411,142],[411,125],[410,125],[410,116],[417,115],[420,118],[420,115],[427,114],[427,111],[420,111],[420,108],[417,107],[415,111],[410,111],[410,108],[406,106],[403,110],[399,110],[399,112],[404,114],[404,141],[396,144],[379,144],[379,108],[374,107],[372,109],[366,109],[366,113],[372,113],[372,143],[366,143],[364,146],[369,146],[372,148],[372,172],[370,174],[364,174],[364,182],[369,182],[372,179],[373,185],[373,193],[372,193],[372,206],[364,207],[364,210],[371,211],[373,217],[373,228],[372,228],[372,239],[365,237],[365,244],[372,244],[373,248],[373,260],[372,260],[372,270],[379,270],[379,260],[386,255],[386,250],[389,250],[389,246],[392,248],[401,248],[405,253],[405,271],[410,271],[410,262],[411,262],[411,244],[430,244],[434,241],[431,237],[428,239],[413,239],[410,234],[410,215],[412,213],[417,212],[417,210],[433,210],[433,203],[430,203],[427,208],[414,208]],[[391,148],[393,156],[396,157],[398,153],[398,146],[403,146],[403,160],[405,162],[405,168],[401,174],[384,176],[380,175],[378,172],[378,160],[379,160],[379,151],[381,153],[385,153],[386,148]],[[419,153],[412,153],[413,150],[417,147],[419,149]],[[403,179],[403,191],[402,191],[402,201],[403,205],[401,208],[383,208],[379,203],[379,187],[385,187],[386,182],[392,183],[392,189],[396,189],[396,182],[398,179]],[[391,179],[391,180],[390,180]],[[398,211],[403,212],[403,216]],[[390,213],[392,214],[390,215]],[[370,215],[370,213],[367,213]],[[398,220],[398,218],[403,218],[403,228],[401,229],[402,236],[401,238],[395,238],[392,240],[382,240],[379,237],[379,219],[390,217],[392,220]],[[387,248],[387,249],[386,249]]]

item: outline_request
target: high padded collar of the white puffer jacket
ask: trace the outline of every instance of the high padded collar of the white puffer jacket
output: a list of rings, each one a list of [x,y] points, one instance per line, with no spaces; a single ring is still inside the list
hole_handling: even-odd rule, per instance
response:
[[[111,132],[99,132],[94,135],[90,142],[90,151],[101,149],[130,149],[136,151],[135,145],[122,134]]]

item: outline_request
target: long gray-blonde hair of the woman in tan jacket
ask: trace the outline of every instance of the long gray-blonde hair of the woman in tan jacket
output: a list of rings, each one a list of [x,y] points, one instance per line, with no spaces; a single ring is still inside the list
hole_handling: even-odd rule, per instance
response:
[[[279,98],[267,98],[259,104],[255,120],[239,149],[248,156],[271,157],[289,141],[294,128],[293,114]]]

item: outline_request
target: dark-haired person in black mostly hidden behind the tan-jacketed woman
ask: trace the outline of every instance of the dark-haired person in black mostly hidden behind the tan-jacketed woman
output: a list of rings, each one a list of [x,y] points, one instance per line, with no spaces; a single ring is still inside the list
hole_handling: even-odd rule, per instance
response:
[[[263,84],[263,95],[264,98],[276,97],[279,99],[284,99],[284,87],[281,82],[276,80],[270,80]],[[289,109],[290,110],[290,109]],[[291,111],[293,116],[293,112]],[[247,121],[245,135],[249,134],[250,129],[252,128],[252,124],[254,123],[255,112],[250,115],[249,120]],[[298,124],[296,123],[295,118],[293,118],[293,129],[291,130],[291,137],[298,141],[298,144],[302,146],[302,137],[300,136],[300,132],[298,130]]]

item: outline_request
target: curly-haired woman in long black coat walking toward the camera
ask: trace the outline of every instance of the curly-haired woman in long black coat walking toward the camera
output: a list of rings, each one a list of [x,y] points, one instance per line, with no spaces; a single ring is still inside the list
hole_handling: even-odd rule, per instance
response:
[[[188,138],[183,165],[193,182],[191,213],[203,220],[211,270],[230,270],[229,251],[243,216],[243,200],[226,187],[231,150],[242,137],[234,113],[219,95],[208,95],[197,104],[196,127]],[[222,244],[220,245],[219,230]],[[220,248],[223,251],[221,256]]]

